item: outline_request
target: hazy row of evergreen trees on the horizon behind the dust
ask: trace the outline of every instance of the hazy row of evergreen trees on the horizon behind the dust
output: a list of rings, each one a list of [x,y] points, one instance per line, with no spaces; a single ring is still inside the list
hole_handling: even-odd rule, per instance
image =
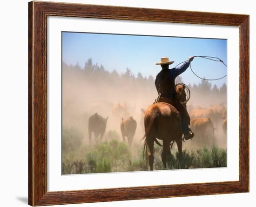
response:
[[[78,63],[76,65],[67,65],[64,61],[62,62],[62,72],[63,73],[76,73],[79,77],[87,81],[98,82],[101,81],[107,84],[111,83],[114,86],[116,84],[132,84],[133,86],[140,85],[141,87],[150,88],[155,87],[155,78],[152,75],[148,77],[143,77],[141,73],[137,76],[132,73],[132,70],[126,68],[125,73],[118,73],[116,69],[109,72],[104,66],[94,64],[92,59],[88,59],[85,62],[85,66],[81,67]],[[176,82],[182,82],[182,77],[178,76]],[[213,95],[226,95],[227,85],[224,83],[221,87],[217,87],[216,84],[212,84],[208,80],[201,80],[199,84],[188,84],[190,90],[193,93],[201,94],[213,94]]]

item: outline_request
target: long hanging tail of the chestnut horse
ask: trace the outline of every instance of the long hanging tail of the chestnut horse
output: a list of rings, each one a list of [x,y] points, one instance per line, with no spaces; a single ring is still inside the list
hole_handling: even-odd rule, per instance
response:
[[[145,153],[147,153],[148,138],[150,137],[150,133],[151,133],[151,131],[152,131],[152,126],[153,126],[153,124],[155,123],[155,120],[158,118],[158,116],[159,116],[159,110],[158,110],[158,108],[154,107],[152,114],[149,116],[148,125],[147,125],[147,127],[145,126],[145,135],[143,136],[143,139],[145,138],[145,140],[144,140],[144,146],[143,146],[143,157],[145,157]],[[146,116],[145,116],[145,119],[146,119]],[[162,146],[162,145],[156,140],[156,138],[155,138],[155,142],[156,142],[156,144]]]

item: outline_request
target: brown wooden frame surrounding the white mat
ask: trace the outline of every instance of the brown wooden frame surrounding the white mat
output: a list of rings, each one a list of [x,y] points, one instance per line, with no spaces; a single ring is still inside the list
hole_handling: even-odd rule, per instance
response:
[[[240,32],[239,181],[47,192],[48,15],[238,26]],[[28,17],[29,205],[249,192],[249,15],[32,1],[28,3]]]

